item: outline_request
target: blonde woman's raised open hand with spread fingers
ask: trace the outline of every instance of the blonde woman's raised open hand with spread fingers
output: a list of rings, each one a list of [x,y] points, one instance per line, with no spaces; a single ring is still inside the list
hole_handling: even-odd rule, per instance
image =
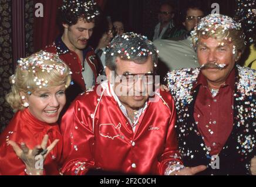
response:
[[[56,146],[59,140],[54,140],[50,146],[47,146],[49,136],[46,134],[43,137],[41,145],[35,146],[33,150],[30,150],[25,143],[21,143],[21,148],[16,144],[14,141],[9,140],[8,144],[12,146],[14,149],[16,155],[21,158],[21,160],[26,165],[27,172],[31,173],[31,175],[42,175],[43,169],[37,169],[35,167],[36,165],[36,155],[41,154],[43,161],[47,157],[47,155],[50,153],[50,151]]]

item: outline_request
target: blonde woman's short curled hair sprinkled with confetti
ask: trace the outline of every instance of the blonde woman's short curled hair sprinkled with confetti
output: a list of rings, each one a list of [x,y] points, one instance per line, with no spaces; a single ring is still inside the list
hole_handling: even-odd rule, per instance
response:
[[[16,110],[23,110],[20,93],[26,95],[41,88],[50,88],[65,84],[68,88],[72,72],[69,67],[53,53],[39,51],[28,58],[18,60],[15,74],[10,77],[11,91],[6,95],[6,101]]]

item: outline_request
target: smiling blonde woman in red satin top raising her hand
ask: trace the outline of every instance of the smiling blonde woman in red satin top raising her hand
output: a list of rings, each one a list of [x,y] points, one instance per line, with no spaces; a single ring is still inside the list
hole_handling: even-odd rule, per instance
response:
[[[15,116],[0,135],[0,175],[58,175],[62,136],[56,123],[66,103],[70,70],[39,51],[18,61],[6,100]]]

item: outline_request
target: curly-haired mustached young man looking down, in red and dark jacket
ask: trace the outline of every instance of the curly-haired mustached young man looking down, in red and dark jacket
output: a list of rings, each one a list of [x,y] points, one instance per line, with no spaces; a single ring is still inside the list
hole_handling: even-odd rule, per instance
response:
[[[50,53],[58,54],[73,72],[72,85],[66,92],[68,103],[80,92],[92,88],[97,75],[103,71],[94,50],[87,45],[99,14],[93,0],[64,1],[60,7],[63,34],[45,48]]]

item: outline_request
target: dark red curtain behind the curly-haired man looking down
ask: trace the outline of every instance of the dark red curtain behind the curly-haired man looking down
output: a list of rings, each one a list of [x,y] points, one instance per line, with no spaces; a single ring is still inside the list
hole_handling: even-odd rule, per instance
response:
[[[36,18],[34,15],[33,46],[35,52],[43,49],[46,45],[51,44],[58,36],[60,30],[56,22],[56,18],[58,7],[62,5],[62,2],[63,0],[34,1],[34,5],[37,3],[41,3],[43,5],[43,18]],[[97,0],[96,2],[103,10],[106,0]]]

